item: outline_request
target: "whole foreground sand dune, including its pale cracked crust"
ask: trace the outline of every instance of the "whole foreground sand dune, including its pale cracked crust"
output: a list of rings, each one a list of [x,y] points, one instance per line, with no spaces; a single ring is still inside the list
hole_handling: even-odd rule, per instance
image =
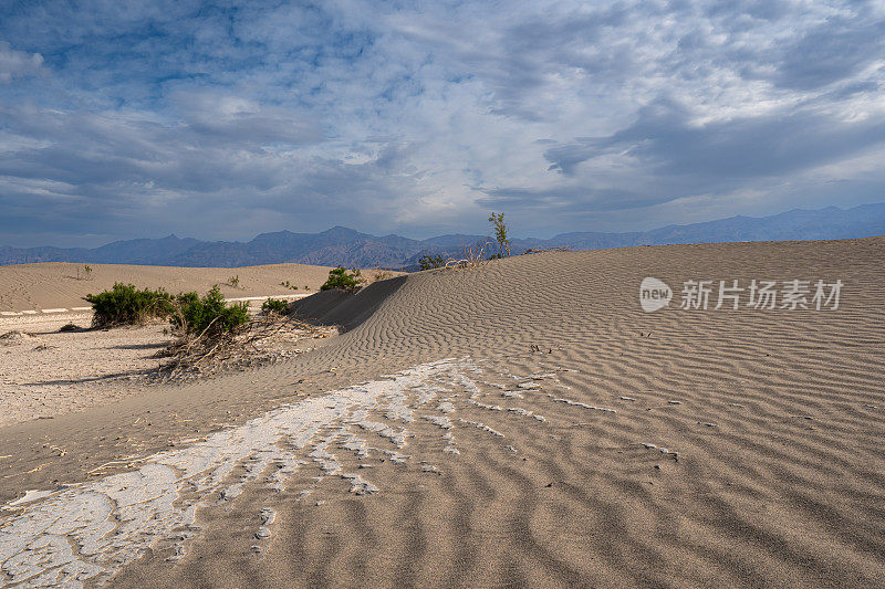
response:
[[[0,585],[882,586],[883,259],[555,252],[305,298],[346,332],[0,427]],[[701,280],[843,288],[678,308]]]

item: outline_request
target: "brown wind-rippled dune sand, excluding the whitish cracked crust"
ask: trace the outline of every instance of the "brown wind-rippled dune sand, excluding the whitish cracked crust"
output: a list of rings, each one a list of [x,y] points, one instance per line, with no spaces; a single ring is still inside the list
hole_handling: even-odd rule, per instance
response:
[[[155,551],[114,582],[882,587],[884,259],[885,238],[872,238],[562,252],[409,276],[329,346],[226,379],[223,398],[236,389],[267,403],[273,386],[303,378],[339,390],[438,358],[475,358],[481,374],[421,368],[438,376],[415,377],[414,390],[384,385],[402,402],[386,392],[347,401],[348,417],[323,413],[304,448],[283,439],[281,470],[293,474],[268,484],[290,483],[293,497],[310,491],[301,501],[233,486],[261,464],[261,454],[238,459],[215,487],[241,488],[237,508],[199,512],[200,522],[223,513],[186,543],[178,566]],[[673,287],[706,278],[846,287],[832,313],[649,314],[636,291],[649,275]],[[321,388],[332,378],[341,381]],[[215,388],[176,391],[176,410]],[[326,400],[310,407],[334,411]],[[350,493],[354,481],[339,472],[379,491]],[[322,488],[311,490],[314,475]],[[280,501],[269,506],[268,496]],[[266,507],[271,537],[238,536],[258,532]]]

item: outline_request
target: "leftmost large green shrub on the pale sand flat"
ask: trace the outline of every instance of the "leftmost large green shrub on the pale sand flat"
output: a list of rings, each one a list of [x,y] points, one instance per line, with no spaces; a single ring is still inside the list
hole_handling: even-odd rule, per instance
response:
[[[171,296],[163,288],[139,291],[134,284],[114,283],[114,287],[97,295],[83,297],[92,303],[95,327],[139,325],[150,319],[167,317],[171,311]]]

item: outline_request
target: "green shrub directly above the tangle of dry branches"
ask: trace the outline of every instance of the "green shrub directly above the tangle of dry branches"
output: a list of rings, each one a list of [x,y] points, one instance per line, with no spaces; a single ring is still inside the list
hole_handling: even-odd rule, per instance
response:
[[[188,335],[215,337],[229,334],[249,320],[247,304],[228,305],[218,285],[202,297],[197,293],[184,293],[175,302],[177,308],[170,322]]]

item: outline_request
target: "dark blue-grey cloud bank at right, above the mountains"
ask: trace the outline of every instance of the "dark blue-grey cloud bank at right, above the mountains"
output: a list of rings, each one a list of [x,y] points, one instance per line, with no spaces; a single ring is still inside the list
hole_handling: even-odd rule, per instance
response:
[[[552,147],[544,157],[565,176],[575,176],[591,158],[616,151],[656,173],[726,180],[803,170],[883,143],[885,115],[853,122],[791,109],[695,125],[679,105],[658,101],[611,136]]]

